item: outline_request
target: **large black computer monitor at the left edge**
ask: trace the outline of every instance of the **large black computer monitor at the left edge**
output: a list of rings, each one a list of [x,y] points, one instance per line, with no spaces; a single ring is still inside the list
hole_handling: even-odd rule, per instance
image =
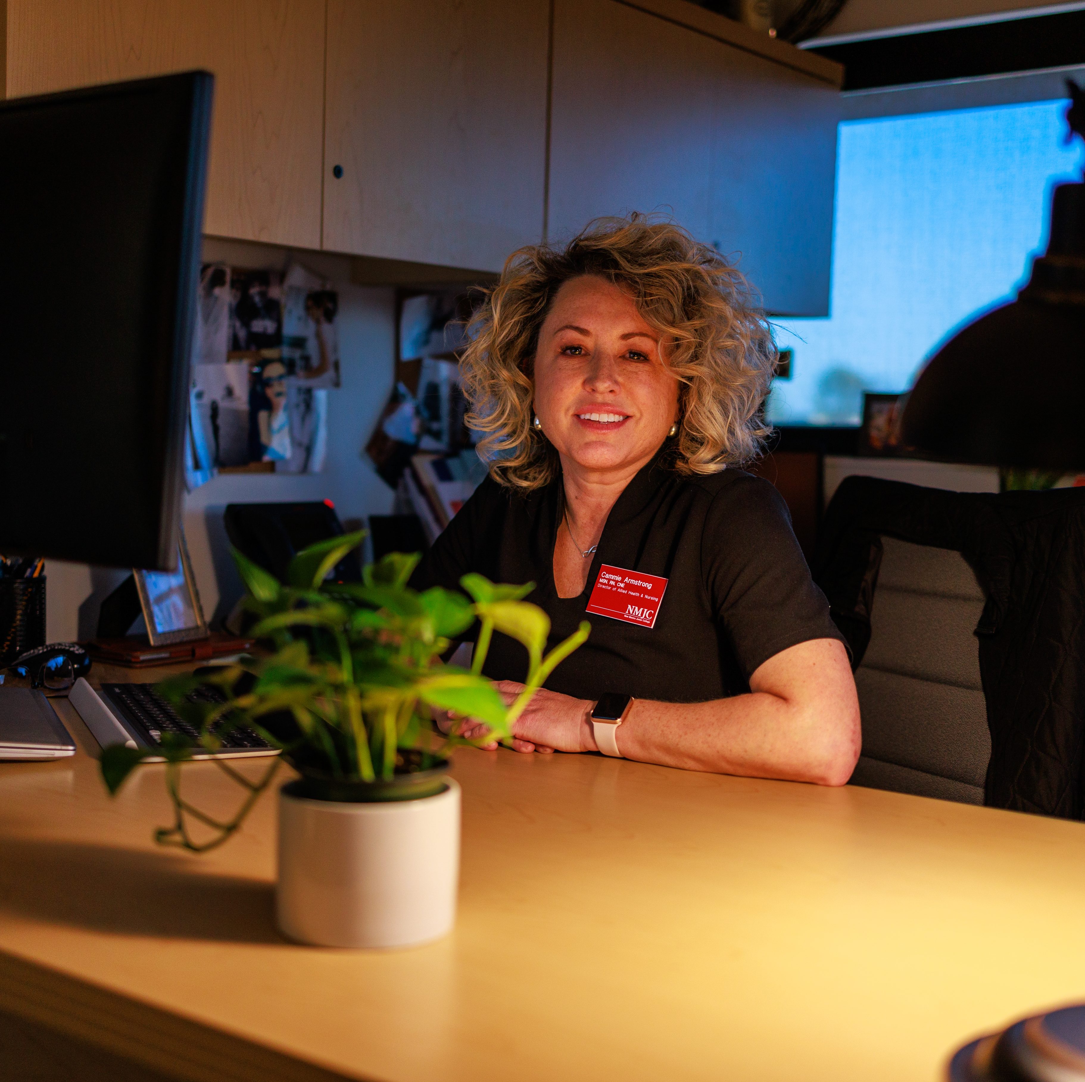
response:
[[[0,553],[177,566],[214,77],[0,104]]]

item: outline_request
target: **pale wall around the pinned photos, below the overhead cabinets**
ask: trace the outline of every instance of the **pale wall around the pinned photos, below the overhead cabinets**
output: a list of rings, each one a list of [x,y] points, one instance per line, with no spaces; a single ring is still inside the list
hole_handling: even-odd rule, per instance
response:
[[[282,269],[283,248],[207,237],[204,258],[235,267]],[[386,514],[393,492],[373,472],[362,448],[392,388],[395,350],[394,291],[349,283],[349,260],[299,252],[299,262],[332,280],[340,292],[342,387],[329,391],[328,460],[321,474],[222,474],[189,493],[184,531],[208,619],[229,615],[241,583],[229,555],[222,508],[231,502],[323,500],[340,518]],[[49,561],[46,634],[49,642],[93,637],[98,609],[128,572]]]

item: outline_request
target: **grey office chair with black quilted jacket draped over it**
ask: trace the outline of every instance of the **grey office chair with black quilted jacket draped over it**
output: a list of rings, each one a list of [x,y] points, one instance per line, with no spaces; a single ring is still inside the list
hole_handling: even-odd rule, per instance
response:
[[[863,717],[852,784],[1085,812],[1085,490],[846,478],[815,581]]]

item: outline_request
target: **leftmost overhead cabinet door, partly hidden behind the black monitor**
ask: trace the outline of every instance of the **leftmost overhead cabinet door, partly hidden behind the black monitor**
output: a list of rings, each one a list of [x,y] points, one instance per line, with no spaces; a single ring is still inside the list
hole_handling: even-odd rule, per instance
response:
[[[8,0],[8,95],[215,74],[205,231],[317,248],[324,0]]]

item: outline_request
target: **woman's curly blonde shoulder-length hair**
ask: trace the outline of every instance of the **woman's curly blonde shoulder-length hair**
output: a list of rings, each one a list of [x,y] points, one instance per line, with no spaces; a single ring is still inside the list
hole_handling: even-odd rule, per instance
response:
[[[478,452],[492,476],[527,491],[560,472],[558,452],[532,427],[535,351],[558,289],[585,274],[626,291],[663,336],[663,357],[679,381],[673,468],[714,474],[757,455],[777,350],[753,291],[679,226],[635,214],[599,218],[564,247],[520,248],[485,292],[460,371],[467,422],[485,434]]]

